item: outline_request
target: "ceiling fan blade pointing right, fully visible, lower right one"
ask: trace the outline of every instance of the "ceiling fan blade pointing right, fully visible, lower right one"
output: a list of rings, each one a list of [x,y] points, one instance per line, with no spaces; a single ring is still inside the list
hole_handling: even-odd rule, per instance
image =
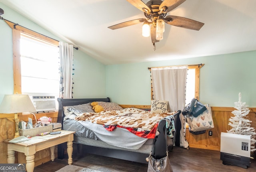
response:
[[[172,26],[178,26],[192,30],[200,30],[202,26],[204,26],[204,23],[179,16],[166,16],[164,18],[164,22]]]

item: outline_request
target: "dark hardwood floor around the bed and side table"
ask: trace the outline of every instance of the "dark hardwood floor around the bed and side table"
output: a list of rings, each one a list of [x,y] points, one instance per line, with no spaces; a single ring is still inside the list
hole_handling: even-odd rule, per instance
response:
[[[103,172],[147,172],[147,164],[108,158],[93,154],[78,156],[74,146],[73,165],[100,170]],[[250,167],[223,165],[220,151],[190,148],[186,150],[174,147],[169,153],[169,159],[174,172],[256,172],[256,160],[252,159]],[[67,156],[63,160],[55,159],[34,168],[34,172],[55,172],[68,165]]]

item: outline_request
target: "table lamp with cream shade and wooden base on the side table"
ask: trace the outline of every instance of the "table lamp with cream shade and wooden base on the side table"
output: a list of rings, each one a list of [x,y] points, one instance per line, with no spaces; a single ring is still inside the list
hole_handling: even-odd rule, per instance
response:
[[[14,113],[14,137],[19,136],[18,113],[35,111],[36,109],[28,95],[4,95],[4,99],[0,105],[0,113]]]

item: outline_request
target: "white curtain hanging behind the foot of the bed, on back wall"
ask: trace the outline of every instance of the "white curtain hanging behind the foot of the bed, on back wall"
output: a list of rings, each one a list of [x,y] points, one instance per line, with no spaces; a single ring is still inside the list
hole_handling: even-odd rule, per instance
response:
[[[151,68],[154,100],[168,100],[170,112],[184,109],[187,71],[188,66]],[[180,146],[188,148],[188,142],[185,139],[186,121],[182,113],[180,113],[180,122]]]

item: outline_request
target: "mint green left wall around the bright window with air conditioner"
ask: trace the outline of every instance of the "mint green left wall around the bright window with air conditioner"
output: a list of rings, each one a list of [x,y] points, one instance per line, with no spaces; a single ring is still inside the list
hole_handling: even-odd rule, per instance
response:
[[[47,30],[41,28],[24,16],[14,12],[0,3],[4,10],[4,19],[18,23],[40,34],[60,40]],[[13,70],[12,70],[12,29],[0,20],[0,102],[5,94],[13,94]],[[80,50],[74,49],[74,98],[105,97],[105,65],[86,55]]]

